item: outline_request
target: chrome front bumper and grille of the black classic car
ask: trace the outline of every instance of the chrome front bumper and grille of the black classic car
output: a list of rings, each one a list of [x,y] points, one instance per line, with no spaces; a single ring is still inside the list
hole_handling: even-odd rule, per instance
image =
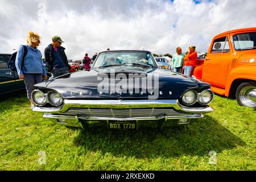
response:
[[[89,108],[102,109],[102,111],[111,110],[112,112],[114,109],[119,109],[125,112],[135,109],[137,112],[143,113],[143,109],[153,108],[154,110],[154,108],[163,108],[163,110],[168,110],[168,107],[173,108],[173,112],[166,112],[169,115],[162,114],[150,116],[150,114],[142,114],[143,117],[127,117],[127,114],[124,116],[120,114],[115,116],[113,113],[113,115],[110,114],[107,117],[104,117],[102,115],[93,116],[92,114],[88,114],[88,110],[90,110]],[[72,113],[71,108],[77,109],[76,113]],[[159,127],[159,123],[161,123],[160,127],[163,127],[168,125],[172,126],[172,124],[187,124],[191,119],[204,117],[203,113],[209,113],[213,111],[213,109],[209,106],[204,108],[184,107],[181,106],[177,100],[65,100],[62,107],[34,107],[33,111],[43,112],[43,117],[56,119],[57,123],[67,126],[83,127],[84,125],[82,125],[82,123],[86,123],[86,125],[89,126],[98,126],[108,125],[109,121],[136,121],[137,126],[147,125],[152,122],[150,125]]]

